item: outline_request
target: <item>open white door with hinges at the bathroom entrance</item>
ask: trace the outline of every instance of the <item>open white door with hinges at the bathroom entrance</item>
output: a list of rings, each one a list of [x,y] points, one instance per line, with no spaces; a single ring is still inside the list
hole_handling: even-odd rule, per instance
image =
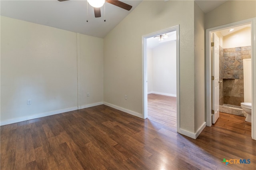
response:
[[[212,123],[216,123],[219,118],[219,104],[220,104],[220,86],[219,86],[219,38],[215,33],[212,33],[212,40],[214,40],[214,47],[212,47]]]

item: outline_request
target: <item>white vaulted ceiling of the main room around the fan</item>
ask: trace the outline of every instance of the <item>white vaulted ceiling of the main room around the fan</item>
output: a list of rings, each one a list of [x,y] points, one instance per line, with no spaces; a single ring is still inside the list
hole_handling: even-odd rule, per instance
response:
[[[121,0],[132,6],[130,11],[106,3],[106,22],[104,7],[101,18],[94,18],[93,8],[86,0],[1,0],[0,14],[18,20],[78,32],[89,36],[104,38],[119,22],[121,22],[142,0]],[[205,12],[213,10],[226,0],[196,0]],[[86,20],[88,19],[88,22]]]

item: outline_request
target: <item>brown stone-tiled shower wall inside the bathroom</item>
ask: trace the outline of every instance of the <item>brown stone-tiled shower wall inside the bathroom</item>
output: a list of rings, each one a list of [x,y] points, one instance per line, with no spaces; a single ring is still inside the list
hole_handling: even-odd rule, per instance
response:
[[[220,67],[221,58],[220,53]],[[225,103],[240,106],[240,103],[244,102],[243,59],[246,58],[251,58],[251,46],[223,49],[223,75],[220,71],[220,78],[223,76],[220,85],[223,85],[223,102],[220,97],[220,105]]]

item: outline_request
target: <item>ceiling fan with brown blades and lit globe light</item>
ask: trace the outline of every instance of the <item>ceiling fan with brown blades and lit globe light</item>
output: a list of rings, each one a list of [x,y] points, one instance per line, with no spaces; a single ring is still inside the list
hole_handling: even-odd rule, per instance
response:
[[[58,1],[62,2],[62,1],[67,1],[67,0],[58,0]],[[112,5],[118,6],[125,10],[128,10],[128,11],[130,11],[130,9],[132,9],[132,6],[130,6],[129,4],[126,4],[124,2],[121,2],[119,0],[87,0],[87,2],[94,8],[95,18],[101,17],[100,7],[102,7],[105,2],[108,2]]]

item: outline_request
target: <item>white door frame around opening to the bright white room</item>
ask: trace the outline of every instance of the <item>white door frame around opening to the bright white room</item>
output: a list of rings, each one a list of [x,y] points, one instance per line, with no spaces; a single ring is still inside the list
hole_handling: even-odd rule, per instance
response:
[[[177,132],[180,129],[180,26],[173,26],[158,32],[142,36],[142,118],[148,118],[148,86],[147,86],[147,38],[176,31],[176,105],[177,105]]]

